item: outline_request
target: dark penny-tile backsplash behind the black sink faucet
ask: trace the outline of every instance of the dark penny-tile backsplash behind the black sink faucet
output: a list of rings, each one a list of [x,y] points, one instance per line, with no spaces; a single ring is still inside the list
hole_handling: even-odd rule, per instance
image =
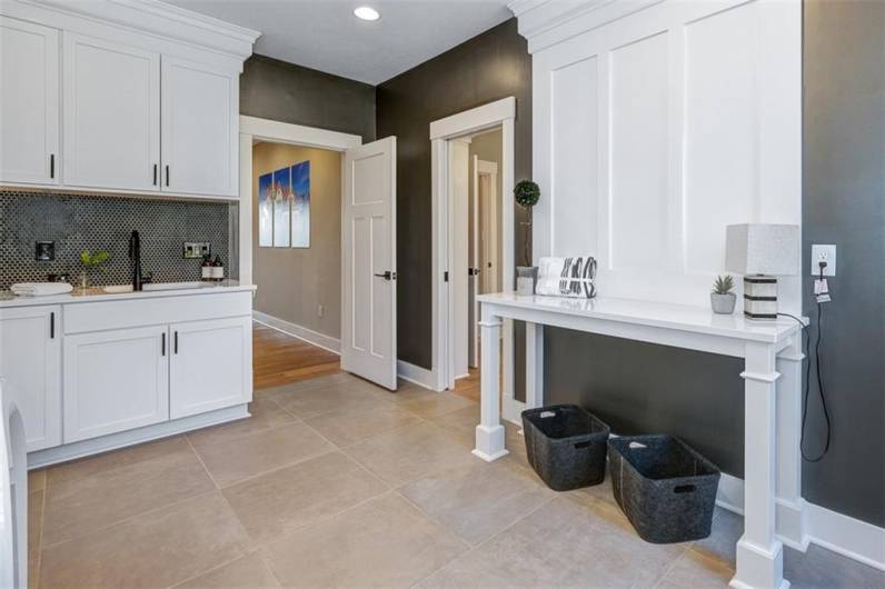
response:
[[[129,236],[141,236],[141,268],[158,282],[200,279],[200,260],[182,257],[183,241],[211,242],[230,270],[225,202],[170,201],[49,192],[0,192],[0,289],[43,281],[67,272],[79,284],[80,252],[106,250],[103,270],[90,272],[92,284],[125,284],[129,273]],[[54,261],[34,261],[34,242],[54,241]]]

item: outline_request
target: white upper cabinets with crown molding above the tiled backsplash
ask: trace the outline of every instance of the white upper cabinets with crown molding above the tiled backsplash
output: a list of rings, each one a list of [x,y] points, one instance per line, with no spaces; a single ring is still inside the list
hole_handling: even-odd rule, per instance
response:
[[[0,187],[237,199],[258,36],[153,0],[0,1]]]

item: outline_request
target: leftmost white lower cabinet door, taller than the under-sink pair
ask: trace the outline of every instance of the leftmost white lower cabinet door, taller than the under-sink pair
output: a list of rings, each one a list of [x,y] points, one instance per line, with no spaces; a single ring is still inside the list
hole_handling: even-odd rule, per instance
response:
[[[61,443],[61,307],[0,309],[0,377],[18,399],[28,451]]]

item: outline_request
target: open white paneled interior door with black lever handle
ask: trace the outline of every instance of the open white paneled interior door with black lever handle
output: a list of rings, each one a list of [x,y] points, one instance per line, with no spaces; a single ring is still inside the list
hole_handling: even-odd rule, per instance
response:
[[[341,368],[397,388],[396,137],[345,152]]]

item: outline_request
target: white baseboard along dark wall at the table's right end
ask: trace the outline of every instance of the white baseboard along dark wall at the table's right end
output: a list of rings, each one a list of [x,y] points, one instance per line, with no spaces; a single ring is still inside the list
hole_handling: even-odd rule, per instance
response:
[[[719,490],[716,493],[716,505],[743,516],[744,481],[723,472],[719,478]],[[799,515],[799,518],[804,518],[804,538],[801,541],[790,541],[779,537],[785,545],[796,550],[805,550],[811,542],[875,569],[885,570],[885,528],[807,501],[802,501],[798,506],[778,501],[776,507],[778,513],[804,511]]]

